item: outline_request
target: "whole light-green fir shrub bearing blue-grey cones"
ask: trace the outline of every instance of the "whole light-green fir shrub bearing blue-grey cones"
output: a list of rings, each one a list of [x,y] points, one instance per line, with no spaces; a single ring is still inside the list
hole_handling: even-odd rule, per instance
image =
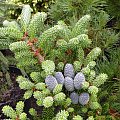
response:
[[[25,5],[19,21],[14,24],[5,21],[0,28],[0,38],[13,41],[9,48],[15,54],[17,67],[27,74],[17,78],[19,87],[25,92],[22,100],[35,99],[35,109],[40,108],[42,113],[30,104],[25,106],[29,109],[29,113],[25,111],[27,115],[23,112],[23,102],[17,103],[16,111],[4,106],[3,113],[16,120],[100,117],[102,106],[97,93],[108,76],[94,71],[101,49],[88,49],[91,45],[87,35],[90,15],[81,17],[73,28],[63,21],[47,28],[44,25],[46,13],[38,12],[31,17],[31,11],[30,6]],[[51,114],[47,115],[46,111]]]

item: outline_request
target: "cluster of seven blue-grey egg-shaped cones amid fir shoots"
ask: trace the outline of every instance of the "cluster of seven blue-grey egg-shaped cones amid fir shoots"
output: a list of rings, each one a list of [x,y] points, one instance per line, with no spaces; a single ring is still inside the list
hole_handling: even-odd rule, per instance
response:
[[[82,72],[78,72],[75,75],[75,71],[72,64],[66,64],[64,67],[64,74],[62,72],[56,72],[54,76],[48,75],[45,78],[45,83],[49,90],[53,91],[57,84],[62,84],[65,86],[67,91],[72,92],[70,98],[73,104],[86,105],[89,101],[88,93],[81,93],[78,95],[76,92],[73,92],[75,89],[79,90],[82,88],[83,83],[85,82],[85,76]]]

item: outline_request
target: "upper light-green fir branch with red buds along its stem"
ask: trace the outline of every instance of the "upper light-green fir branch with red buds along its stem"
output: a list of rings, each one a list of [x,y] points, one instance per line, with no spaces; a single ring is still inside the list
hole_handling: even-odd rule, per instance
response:
[[[28,16],[26,16],[26,11],[29,12],[29,14],[27,14]],[[45,62],[44,59],[51,59],[49,55],[51,55],[51,53],[54,50],[56,50],[57,53],[54,54],[53,61],[55,61],[55,59],[58,56],[61,56],[60,57],[61,60],[64,61],[65,58],[66,58],[65,60],[68,60],[68,58],[70,57],[70,55],[69,55],[69,54],[71,54],[71,53],[69,53],[70,51],[75,52],[72,55],[74,57],[76,52],[77,51],[79,52],[79,49],[88,47],[91,43],[90,39],[88,39],[87,34],[85,34],[86,32],[84,32],[84,33],[79,32],[79,29],[81,29],[81,28],[86,31],[87,26],[88,26],[87,24],[90,20],[89,15],[85,15],[84,17],[82,17],[76,23],[73,30],[70,30],[67,27],[67,25],[65,25],[65,23],[58,22],[58,25],[55,25],[54,27],[49,28],[48,30],[44,31],[42,34],[40,32],[39,33],[37,32],[40,30],[40,29],[38,29],[39,27],[37,25],[41,25],[44,23],[44,20],[46,19],[46,14],[45,13],[36,13],[32,19],[31,19],[30,15],[31,15],[31,8],[30,8],[30,6],[25,5],[23,7],[23,10],[21,13],[21,19],[20,19],[21,28],[17,29],[17,27],[16,27],[16,29],[13,29],[13,26],[1,28],[1,30],[2,30],[1,38],[4,38],[8,35],[9,39],[16,38],[16,40],[17,39],[21,40],[21,41],[17,41],[17,42],[10,44],[9,47],[10,47],[10,50],[15,52],[15,58],[18,61],[17,66],[21,69],[25,69],[26,72],[29,72],[29,70],[28,70],[29,67],[31,68],[33,66],[36,66],[36,69],[38,69],[38,67],[39,67],[39,69],[41,69],[40,65],[37,64],[37,61],[39,63],[42,63],[42,68],[45,69],[43,67],[43,65],[47,64],[47,61]],[[29,28],[31,25],[34,27]],[[40,27],[40,28],[42,28],[42,27]],[[13,34],[14,31],[17,34]],[[31,31],[34,33],[31,33]],[[77,33],[74,33],[74,31]],[[71,36],[71,38],[70,38],[70,36]],[[66,40],[66,42],[68,41],[68,43],[66,44],[66,48],[64,49],[59,46],[58,47],[56,46],[56,47],[54,47],[53,50],[51,50],[53,48],[53,46],[55,46],[54,42],[57,41],[58,37],[60,37],[60,39]],[[46,45],[47,45],[47,47],[45,47]],[[68,57],[64,57],[64,56],[66,56],[66,53],[68,54]],[[79,56],[79,58],[82,58],[83,54],[78,54],[78,55],[81,55],[81,57]],[[34,69],[35,69],[35,67],[34,67]],[[45,71],[45,72],[46,72],[46,74],[50,74],[49,73],[50,71]],[[53,71],[51,71],[51,72],[53,72]]]

